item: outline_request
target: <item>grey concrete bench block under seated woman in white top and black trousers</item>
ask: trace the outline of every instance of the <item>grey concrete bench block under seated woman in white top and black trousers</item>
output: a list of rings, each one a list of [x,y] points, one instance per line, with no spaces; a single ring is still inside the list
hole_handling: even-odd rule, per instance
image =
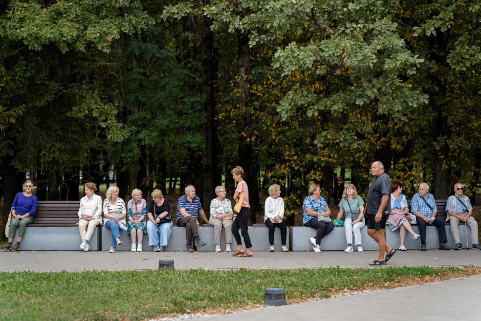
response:
[[[251,239],[252,243],[252,250],[253,251],[268,251],[270,244],[269,244],[269,230],[267,227],[253,227],[253,226],[248,226],[247,228],[249,232],[249,237]],[[241,231],[239,230],[239,234],[241,234]],[[199,235],[202,239],[202,241],[207,242],[207,245],[203,247],[197,248],[198,251],[214,251],[215,250],[215,244],[214,244],[214,228],[213,227],[205,227],[204,230],[201,232],[199,230]],[[241,240],[242,240],[242,247],[244,250],[246,249],[246,245],[244,243],[244,239],[242,238],[241,234]],[[221,234],[221,249],[224,251],[225,250],[225,230],[222,228],[222,234]],[[274,231],[274,249],[276,251],[281,251],[281,244],[282,242],[280,241],[280,229],[276,227]],[[289,227],[287,230],[287,237],[286,237],[286,246],[289,248]],[[235,251],[237,249],[237,242],[235,241],[234,236],[232,236],[232,244],[231,244],[231,249]]]

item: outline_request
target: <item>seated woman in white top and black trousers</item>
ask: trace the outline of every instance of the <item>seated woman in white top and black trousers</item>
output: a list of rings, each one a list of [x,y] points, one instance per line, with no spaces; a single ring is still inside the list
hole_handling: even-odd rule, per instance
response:
[[[264,204],[264,223],[269,228],[269,252],[274,252],[274,229],[280,228],[280,240],[282,251],[288,252],[286,247],[287,226],[284,217],[284,200],[280,197],[280,186],[273,184],[269,186],[269,197]]]

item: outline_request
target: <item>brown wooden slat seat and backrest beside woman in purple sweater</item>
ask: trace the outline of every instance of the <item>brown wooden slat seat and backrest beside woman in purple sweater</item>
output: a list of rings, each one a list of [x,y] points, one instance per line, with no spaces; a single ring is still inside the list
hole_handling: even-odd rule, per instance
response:
[[[80,201],[38,201],[29,227],[77,227]]]

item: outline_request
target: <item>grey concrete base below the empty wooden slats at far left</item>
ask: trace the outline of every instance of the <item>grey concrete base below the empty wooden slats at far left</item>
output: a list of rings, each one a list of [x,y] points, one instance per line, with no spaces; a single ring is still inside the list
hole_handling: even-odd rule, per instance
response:
[[[13,243],[17,241],[18,229]],[[101,228],[96,227],[90,239],[90,250],[101,250]],[[21,241],[21,251],[81,251],[78,227],[28,227]],[[109,246],[110,248],[110,246]]]

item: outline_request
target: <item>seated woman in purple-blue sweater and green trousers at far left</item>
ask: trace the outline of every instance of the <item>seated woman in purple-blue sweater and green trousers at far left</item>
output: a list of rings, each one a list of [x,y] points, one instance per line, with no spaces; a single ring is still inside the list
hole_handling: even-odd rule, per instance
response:
[[[32,194],[33,183],[26,180],[23,184],[23,192],[18,192],[13,199],[11,211],[12,218],[8,229],[8,245],[4,248],[9,251],[19,251],[20,242],[25,236],[27,225],[33,223],[33,216],[37,210],[37,197]],[[15,231],[18,228],[17,242],[12,245]]]

